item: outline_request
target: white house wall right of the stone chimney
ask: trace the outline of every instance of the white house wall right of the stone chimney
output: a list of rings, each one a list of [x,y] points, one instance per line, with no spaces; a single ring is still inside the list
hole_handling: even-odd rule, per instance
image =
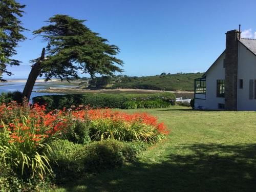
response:
[[[238,57],[238,110],[256,111],[255,82],[253,99],[249,99],[249,80],[256,80],[256,56],[239,42]],[[239,79],[243,79],[243,89],[239,88]]]

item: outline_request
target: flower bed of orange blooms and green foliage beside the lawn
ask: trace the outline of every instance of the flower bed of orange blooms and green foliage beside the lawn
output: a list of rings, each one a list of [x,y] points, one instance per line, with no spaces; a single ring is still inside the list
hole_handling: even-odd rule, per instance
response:
[[[120,164],[123,162],[122,159],[134,156],[129,153],[135,152],[133,147],[125,142],[156,143],[168,134],[163,123],[158,123],[156,117],[146,113],[126,114],[110,109],[94,110],[88,107],[46,112],[45,105],[29,106],[26,101],[23,104],[12,101],[7,105],[0,105],[0,119],[2,122],[0,125],[0,165],[9,167],[12,170],[12,176],[22,178],[25,183],[35,179],[45,180],[45,177],[51,176],[53,172],[58,172],[54,165],[55,161],[61,161],[65,167],[67,162],[69,165],[74,164],[70,163],[73,162],[70,159],[73,157],[80,159],[77,162],[78,167],[84,167],[84,169],[79,168],[79,173],[91,170],[87,166],[89,162],[90,164],[97,162],[94,164],[95,167],[105,167],[103,160],[92,160],[92,156],[89,155],[96,153],[95,150],[99,151],[99,154],[105,151],[102,151],[102,147],[108,145],[109,142],[102,145],[100,142],[97,143],[98,141],[116,140],[117,143],[111,142],[111,147],[106,149],[110,150],[109,157],[118,158]],[[67,144],[71,148],[75,147],[71,150],[72,155],[67,157],[69,160],[66,156],[56,159],[59,157],[56,153],[60,152],[52,151],[52,143],[56,143],[57,140],[67,140],[67,142],[76,144]],[[90,144],[93,147],[88,145],[91,142],[95,142],[94,145]],[[86,147],[84,150],[76,150],[83,146]],[[114,150],[116,146],[123,150],[121,148]],[[66,154],[66,149],[62,148],[62,150],[64,150],[62,154]],[[75,151],[78,152],[75,153]],[[93,158],[102,157],[100,155]],[[108,162],[106,164],[109,164],[109,161],[111,158],[106,161]],[[54,170],[52,170],[52,165],[55,167]]]

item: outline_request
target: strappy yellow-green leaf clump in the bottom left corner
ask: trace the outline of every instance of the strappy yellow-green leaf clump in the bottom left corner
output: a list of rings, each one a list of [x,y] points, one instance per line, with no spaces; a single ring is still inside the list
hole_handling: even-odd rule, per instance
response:
[[[46,138],[34,142],[30,134],[37,134],[23,131],[26,126],[24,119],[22,125],[17,125],[16,133],[8,131],[2,121],[3,130],[0,132],[0,163],[10,167],[15,174],[22,178],[40,177],[52,174],[52,169],[48,159],[51,147],[46,142]]]

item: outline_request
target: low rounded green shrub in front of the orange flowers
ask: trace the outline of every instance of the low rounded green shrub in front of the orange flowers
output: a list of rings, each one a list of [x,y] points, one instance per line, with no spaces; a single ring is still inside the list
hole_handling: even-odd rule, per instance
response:
[[[120,142],[116,140],[95,141],[86,145],[75,144],[68,140],[52,143],[51,161],[57,183],[79,178],[88,172],[101,172],[132,161],[146,149],[143,142]]]

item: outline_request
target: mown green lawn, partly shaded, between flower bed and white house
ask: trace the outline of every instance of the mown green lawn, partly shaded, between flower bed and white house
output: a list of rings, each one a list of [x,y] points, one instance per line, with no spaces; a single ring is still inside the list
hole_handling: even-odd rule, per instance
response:
[[[140,159],[53,191],[256,191],[256,113],[169,109],[168,138]]]

